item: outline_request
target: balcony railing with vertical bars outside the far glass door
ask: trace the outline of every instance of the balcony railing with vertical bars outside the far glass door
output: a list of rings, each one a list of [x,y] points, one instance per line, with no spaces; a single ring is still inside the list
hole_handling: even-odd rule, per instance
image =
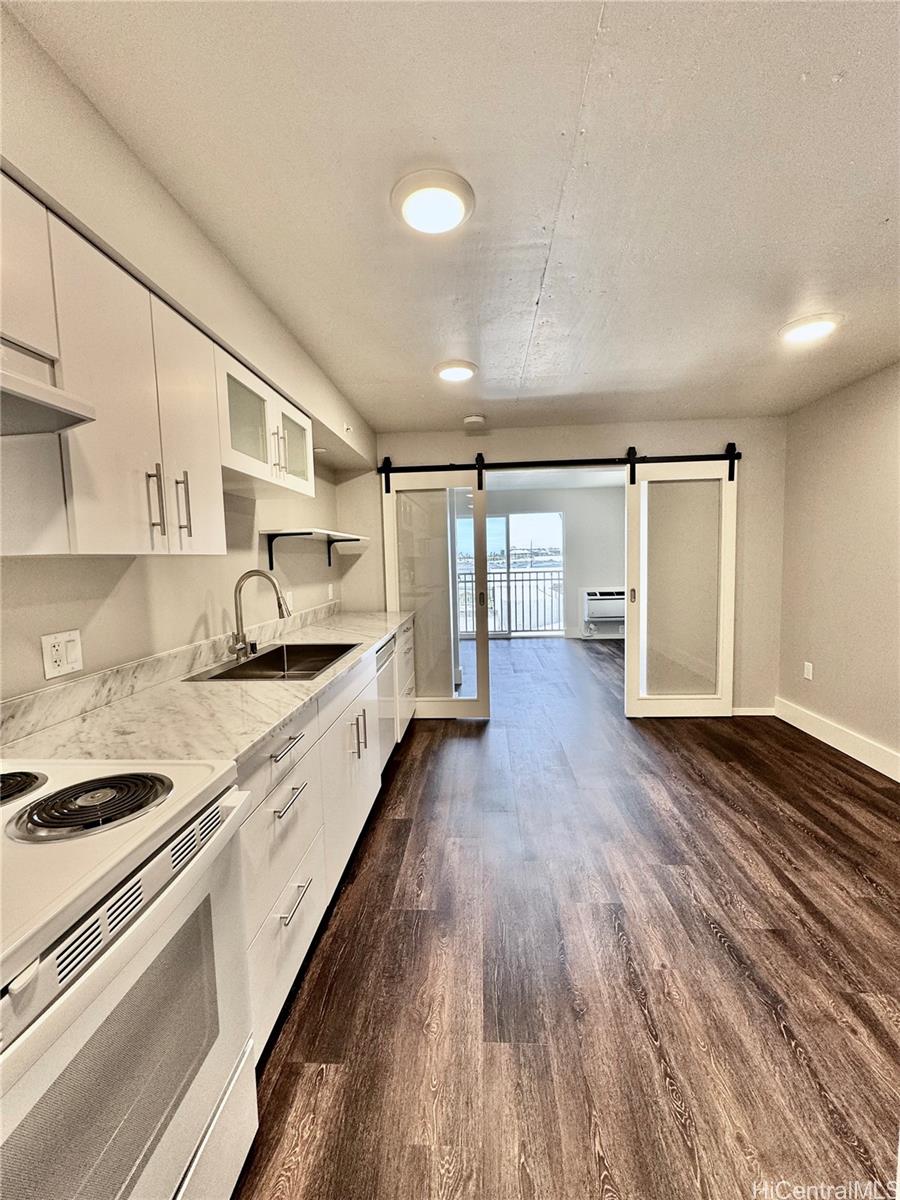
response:
[[[475,576],[458,571],[456,594],[460,636],[475,634]],[[510,634],[552,634],[565,628],[563,571],[488,571],[487,629],[500,637]]]

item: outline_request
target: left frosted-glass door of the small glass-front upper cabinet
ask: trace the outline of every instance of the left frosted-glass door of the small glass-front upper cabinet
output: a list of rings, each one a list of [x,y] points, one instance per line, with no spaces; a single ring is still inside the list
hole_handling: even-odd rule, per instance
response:
[[[216,385],[222,466],[275,482],[281,472],[275,422],[281,397],[218,347]]]

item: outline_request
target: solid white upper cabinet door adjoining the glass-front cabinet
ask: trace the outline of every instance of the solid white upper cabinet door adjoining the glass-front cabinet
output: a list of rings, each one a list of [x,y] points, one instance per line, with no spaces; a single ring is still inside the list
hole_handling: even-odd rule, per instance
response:
[[[224,554],[212,342],[151,296],[168,544],[173,554]]]

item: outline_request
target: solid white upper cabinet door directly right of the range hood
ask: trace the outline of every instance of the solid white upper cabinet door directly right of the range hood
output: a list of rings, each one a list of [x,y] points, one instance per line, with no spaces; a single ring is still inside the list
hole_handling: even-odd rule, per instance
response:
[[[71,550],[168,553],[150,293],[50,216],[58,384],[96,420],[61,434]]]

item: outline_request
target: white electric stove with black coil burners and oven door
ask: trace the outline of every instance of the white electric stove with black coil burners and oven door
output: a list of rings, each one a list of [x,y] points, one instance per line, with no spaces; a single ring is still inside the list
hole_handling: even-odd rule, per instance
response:
[[[234,780],[0,764],[4,1200],[230,1193],[257,1127]]]

